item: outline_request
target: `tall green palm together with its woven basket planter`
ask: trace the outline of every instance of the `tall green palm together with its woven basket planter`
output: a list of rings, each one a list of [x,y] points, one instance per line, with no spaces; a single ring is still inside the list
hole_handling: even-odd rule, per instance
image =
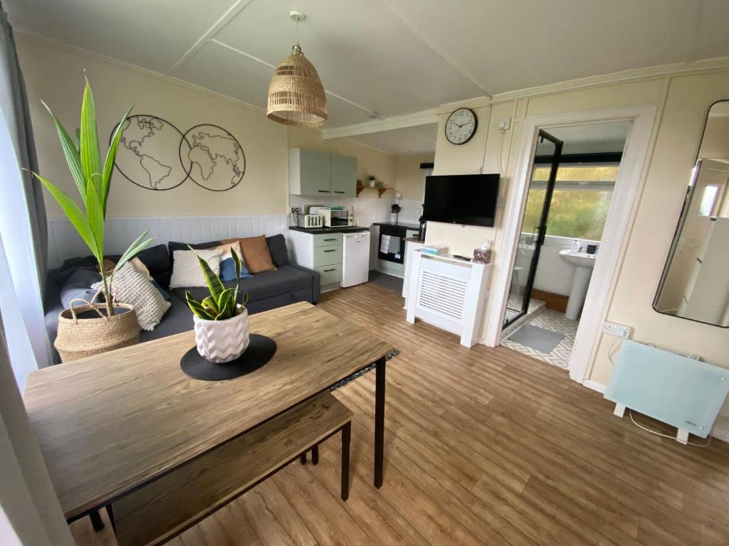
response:
[[[122,116],[114,130],[106,159],[101,162],[96,132],[96,111],[88,80],[84,87],[81,105],[81,127],[78,131],[78,143],[74,143],[46,103],[43,103],[55,123],[58,138],[61,141],[63,154],[71,171],[71,177],[79,191],[83,209],[71,197],[61,191],[37,173],[33,175],[63,209],[76,231],[86,243],[93,257],[98,261],[101,273],[104,303],[79,300],[82,305],[74,306],[71,301],[69,309],[64,309],[58,317],[58,336],[55,348],[58,349],[63,362],[77,358],[97,355],[101,352],[126,347],[139,341],[139,323],[133,306],[116,302],[112,297],[112,281],[114,274],[121,269],[136,253],[149,245],[152,238],[146,239],[149,230],[141,234],[136,241],[122,254],[114,266],[104,263],[104,232],[106,221],[106,200],[112,184],[114,159],[117,157],[120,137],[124,123],[131,108]]]

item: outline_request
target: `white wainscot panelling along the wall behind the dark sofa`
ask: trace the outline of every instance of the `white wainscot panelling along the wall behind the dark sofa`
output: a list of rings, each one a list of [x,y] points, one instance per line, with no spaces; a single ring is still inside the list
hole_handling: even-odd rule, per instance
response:
[[[289,217],[285,214],[260,216],[179,216],[106,218],[104,253],[120,254],[149,229],[152,245],[170,241],[206,242],[233,237],[284,234],[288,236]],[[89,256],[90,251],[66,220],[48,221],[48,266],[61,266],[67,258]]]

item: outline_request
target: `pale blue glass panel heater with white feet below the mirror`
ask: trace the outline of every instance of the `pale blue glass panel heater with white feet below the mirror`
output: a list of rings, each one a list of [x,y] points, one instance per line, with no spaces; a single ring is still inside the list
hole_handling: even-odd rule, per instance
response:
[[[615,415],[625,408],[671,424],[677,440],[689,432],[706,438],[729,392],[729,370],[699,360],[623,340],[605,397]]]

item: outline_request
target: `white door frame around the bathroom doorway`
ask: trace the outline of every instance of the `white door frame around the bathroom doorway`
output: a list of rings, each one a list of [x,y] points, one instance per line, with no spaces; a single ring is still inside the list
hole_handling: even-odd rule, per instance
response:
[[[656,111],[655,105],[625,106],[532,116],[524,119],[517,172],[506,204],[501,266],[496,272],[494,289],[491,292],[493,299],[488,310],[488,325],[484,339],[486,345],[496,347],[501,342],[502,319],[506,311],[511,272],[516,259],[519,232],[526,207],[530,167],[534,162],[539,130],[544,129],[549,132],[550,128],[575,124],[632,122],[633,126],[625,141],[623,158],[620,160],[620,170],[617,173],[615,191],[613,191],[612,202],[605,221],[600,251],[585,298],[585,306],[582,309],[580,325],[577,327],[572,356],[569,359],[570,378],[580,383],[585,382],[585,373],[607,314],[607,296],[615,281],[617,262],[633,213],[636,193],[650,146]]]

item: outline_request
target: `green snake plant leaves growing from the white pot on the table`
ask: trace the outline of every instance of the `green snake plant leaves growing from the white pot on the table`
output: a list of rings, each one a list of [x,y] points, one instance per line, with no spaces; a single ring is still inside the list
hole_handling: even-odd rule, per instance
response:
[[[184,297],[192,312],[203,320],[227,320],[235,317],[237,314],[241,314],[248,301],[248,293],[243,294],[242,304],[238,307],[238,288],[241,285],[240,277],[242,269],[240,256],[235,253],[235,250],[230,249],[230,254],[233,256],[233,263],[235,264],[235,278],[238,279],[238,282],[236,282],[235,288],[225,288],[220,277],[210,269],[208,262],[200,258],[194,248],[189,245],[188,248],[198,258],[200,269],[203,270],[205,282],[208,285],[208,290],[210,290],[210,296],[203,299],[203,301],[197,301],[193,298],[190,290],[185,291]]]

